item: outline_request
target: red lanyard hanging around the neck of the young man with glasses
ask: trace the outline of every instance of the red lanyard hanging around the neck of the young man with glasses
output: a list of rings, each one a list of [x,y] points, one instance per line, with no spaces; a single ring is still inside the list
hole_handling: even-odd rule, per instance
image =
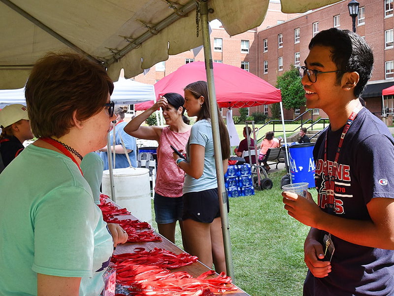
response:
[[[328,195],[328,210],[331,210],[332,213],[335,212],[335,198],[334,198],[334,190],[335,190],[335,176],[336,176],[336,170],[338,167],[338,159],[339,155],[341,153],[341,148],[343,145],[343,140],[345,139],[346,133],[349,131],[350,126],[354,122],[354,119],[356,118],[357,114],[359,113],[360,109],[355,108],[350,114],[345,126],[343,127],[341,138],[339,140],[338,148],[336,149],[335,153],[335,158],[332,163],[332,169],[329,173],[328,170],[328,161],[327,161],[327,135],[328,132],[326,133],[326,140],[324,143],[324,168],[323,168],[323,173],[324,173],[324,178],[325,178],[325,189],[326,189],[326,194]],[[332,207],[332,208],[331,208]]]

